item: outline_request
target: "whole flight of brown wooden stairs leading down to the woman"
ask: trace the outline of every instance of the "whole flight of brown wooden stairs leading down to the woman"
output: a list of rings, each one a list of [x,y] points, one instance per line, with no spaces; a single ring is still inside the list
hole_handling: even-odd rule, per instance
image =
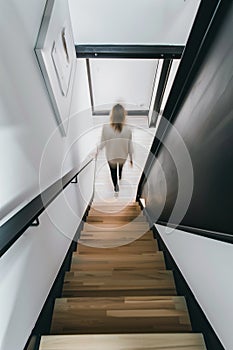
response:
[[[137,203],[94,204],[40,350],[204,350]]]

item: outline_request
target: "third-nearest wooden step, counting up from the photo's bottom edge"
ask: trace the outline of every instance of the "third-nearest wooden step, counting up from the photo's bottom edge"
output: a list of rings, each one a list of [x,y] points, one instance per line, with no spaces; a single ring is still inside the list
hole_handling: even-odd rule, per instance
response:
[[[176,295],[171,271],[103,270],[67,272],[63,297]]]

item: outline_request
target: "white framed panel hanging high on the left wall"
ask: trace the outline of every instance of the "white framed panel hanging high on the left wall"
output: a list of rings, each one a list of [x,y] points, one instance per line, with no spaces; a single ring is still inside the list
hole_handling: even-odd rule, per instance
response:
[[[76,69],[75,45],[66,0],[47,1],[35,52],[56,121],[65,136]]]

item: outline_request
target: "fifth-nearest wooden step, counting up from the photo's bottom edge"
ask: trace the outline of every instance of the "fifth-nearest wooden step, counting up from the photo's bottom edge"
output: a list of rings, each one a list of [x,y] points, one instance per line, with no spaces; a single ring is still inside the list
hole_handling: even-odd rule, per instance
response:
[[[129,244],[120,244],[120,238],[112,241],[114,243],[118,242],[117,246],[114,248],[101,248],[101,247],[90,247],[85,244],[78,244],[76,254],[147,254],[158,251],[158,244],[156,240],[153,241],[142,241],[137,240]],[[99,242],[98,242],[99,243]]]

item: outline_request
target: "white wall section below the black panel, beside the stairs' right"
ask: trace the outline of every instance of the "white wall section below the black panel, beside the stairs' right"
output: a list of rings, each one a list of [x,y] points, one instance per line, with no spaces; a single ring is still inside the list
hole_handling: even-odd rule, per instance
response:
[[[233,349],[232,244],[155,226],[224,348]]]

